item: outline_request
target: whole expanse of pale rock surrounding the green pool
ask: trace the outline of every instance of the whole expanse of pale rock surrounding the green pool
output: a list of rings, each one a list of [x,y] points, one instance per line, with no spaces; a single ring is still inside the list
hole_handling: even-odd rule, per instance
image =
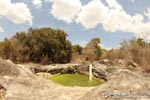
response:
[[[88,74],[88,65],[57,64],[33,69],[36,75],[49,77],[50,73],[61,73],[70,66],[78,73]],[[136,70],[136,67],[131,69],[129,66],[108,66],[93,62],[92,71],[95,77],[103,78],[106,82],[97,87],[64,87],[35,76],[25,66],[0,60],[0,100],[116,100],[117,93],[150,93],[150,77]],[[120,97],[119,100],[125,100],[127,96]],[[148,94],[143,98],[150,99]],[[132,99],[142,100],[141,97]]]

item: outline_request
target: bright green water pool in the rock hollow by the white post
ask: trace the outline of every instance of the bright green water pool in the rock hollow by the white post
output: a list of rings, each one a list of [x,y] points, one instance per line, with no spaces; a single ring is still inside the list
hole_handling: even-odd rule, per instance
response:
[[[49,78],[50,80],[64,86],[82,86],[90,87],[102,84],[102,81],[93,79],[89,81],[89,77],[80,74],[61,74]]]

